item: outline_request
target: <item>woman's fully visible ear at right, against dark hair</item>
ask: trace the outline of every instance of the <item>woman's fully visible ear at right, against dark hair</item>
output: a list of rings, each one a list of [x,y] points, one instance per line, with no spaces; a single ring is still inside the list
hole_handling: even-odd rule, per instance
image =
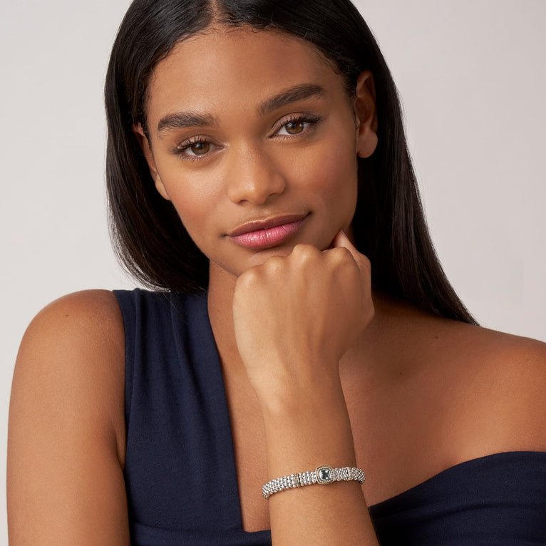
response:
[[[377,147],[376,87],[369,70],[361,73],[356,80],[354,113],[356,152],[361,158],[369,158]]]

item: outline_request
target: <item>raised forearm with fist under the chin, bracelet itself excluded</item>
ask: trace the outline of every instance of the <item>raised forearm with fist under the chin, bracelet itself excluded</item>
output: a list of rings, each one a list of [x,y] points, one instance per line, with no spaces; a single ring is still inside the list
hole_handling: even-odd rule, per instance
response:
[[[374,307],[369,262],[344,235],[341,245],[350,252],[299,245],[237,281],[237,347],[264,417],[269,479],[356,462],[339,360]],[[274,544],[378,543],[356,481],[284,490],[267,502]]]

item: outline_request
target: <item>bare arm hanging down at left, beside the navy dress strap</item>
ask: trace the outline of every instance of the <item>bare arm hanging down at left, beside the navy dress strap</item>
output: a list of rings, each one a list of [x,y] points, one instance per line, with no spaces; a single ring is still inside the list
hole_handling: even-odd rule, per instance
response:
[[[10,545],[128,545],[123,321],[111,292],[43,309],[16,361],[8,435]]]

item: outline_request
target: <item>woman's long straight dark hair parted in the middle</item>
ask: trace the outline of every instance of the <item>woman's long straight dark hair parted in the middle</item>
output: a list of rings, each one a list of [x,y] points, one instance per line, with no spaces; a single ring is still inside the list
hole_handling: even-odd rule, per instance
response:
[[[156,289],[207,288],[208,260],[177,212],[155,190],[133,125],[146,128],[150,74],[176,43],[212,23],[273,29],[302,38],[334,61],[349,94],[374,75],[378,147],[359,159],[353,220],[374,287],[436,316],[475,324],[445,277],[423,215],[396,86],[381,51],[349,0],[135,0],[118,31],[105,84],[110,232],[128,271]]]

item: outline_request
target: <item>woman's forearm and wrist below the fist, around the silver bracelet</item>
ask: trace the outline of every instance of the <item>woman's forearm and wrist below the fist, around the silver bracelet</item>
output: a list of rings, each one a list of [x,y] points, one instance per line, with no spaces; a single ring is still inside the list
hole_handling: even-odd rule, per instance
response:
[[[264,411],[269,479],[319,465],[356,466],[341,386],[307,386],[289,408]],[[365,470],[365,469],[364,469]],[[356,480],[274,493],[267,502],[274,545],[376,545],[362,487]]]

